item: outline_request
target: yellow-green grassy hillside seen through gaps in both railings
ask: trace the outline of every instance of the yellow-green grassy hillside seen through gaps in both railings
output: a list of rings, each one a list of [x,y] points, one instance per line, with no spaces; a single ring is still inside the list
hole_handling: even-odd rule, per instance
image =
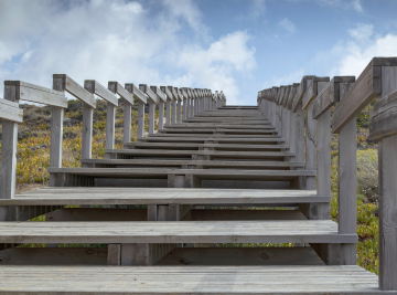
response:
[[[19,126],[18,191],[46,185],[50,165],[50,107],[22,105],[23,123]],[[377,204],[377,147],[367,141],[367,108],[357,119],[357,229],[360,242],[358,264],[377,273],[378,266],[378,204]],[[116,113],[116,148],[122,148],[122,112]],[[148,114],[146,114],[148,116]],[[82,103],[68,101],[64,119],[63,167],[79,167],[82,149]],[[148,122],[148,118],[146,119]],[[148,126],[146,126],[148,129]],[[94,113],[93,158],[105,156],[106,104],[97,101]],[[0,135],[1,135],[0,125]],[[137,109],[132,109],[132,140],[137,136]],[[337,218],[337,138],[332,138],[332,218]]]

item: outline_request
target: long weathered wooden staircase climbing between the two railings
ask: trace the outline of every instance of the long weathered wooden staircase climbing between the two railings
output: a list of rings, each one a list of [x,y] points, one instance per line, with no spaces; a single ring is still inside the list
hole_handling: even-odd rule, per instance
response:
[[[345,263],[357,235],[271,107],[211,102],[0,199],[0,293],[391,294]]]

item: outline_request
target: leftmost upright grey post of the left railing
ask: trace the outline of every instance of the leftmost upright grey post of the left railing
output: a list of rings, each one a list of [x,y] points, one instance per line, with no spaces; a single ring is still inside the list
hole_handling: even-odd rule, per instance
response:
[[[4,99],[19,103],[17,87],[15,85],[4,85]],[[3,119],[2,130],[1,170],[3,188],[0,198],[12,199],[15,196],[17,186],[18,123]]]

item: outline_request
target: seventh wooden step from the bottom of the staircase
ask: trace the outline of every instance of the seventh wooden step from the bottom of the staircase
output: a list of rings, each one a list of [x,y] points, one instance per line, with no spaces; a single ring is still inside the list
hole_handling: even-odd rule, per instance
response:
[[[216,150],[281,150],[288,149],[288,145],[242,145],[242,144],[201,144],[201,143],[127,143],[125,148],[157,148],[157,149],[204,149]]]

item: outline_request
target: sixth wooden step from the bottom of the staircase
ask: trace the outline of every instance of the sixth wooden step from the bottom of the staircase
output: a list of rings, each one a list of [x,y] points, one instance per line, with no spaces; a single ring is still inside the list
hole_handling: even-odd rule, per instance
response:
[[[279,159],[294,157],[289,151],[219,151],[219,150],[171,150],[171,149],[105,149],[105,154],[112,159],[128,157],[175,157],[175,158],[197,158],[207,156],[213,158],[234,158],[234,159]],[[193,157],[194,156],[194,157]]]

